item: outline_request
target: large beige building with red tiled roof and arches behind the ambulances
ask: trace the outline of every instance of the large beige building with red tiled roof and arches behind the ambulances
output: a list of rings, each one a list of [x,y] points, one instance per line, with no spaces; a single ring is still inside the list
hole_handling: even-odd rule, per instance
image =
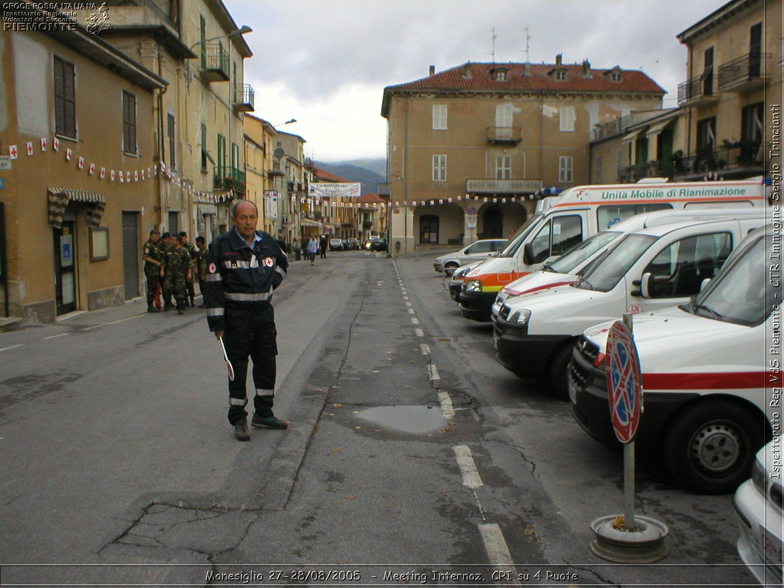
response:
[[[384,89],[390,241],[506,237],[543,187],[589,178],[594,125],[661,107],[641,71],[564,64],[467,63]],[[416,205],[415,205],[416,203]]]

